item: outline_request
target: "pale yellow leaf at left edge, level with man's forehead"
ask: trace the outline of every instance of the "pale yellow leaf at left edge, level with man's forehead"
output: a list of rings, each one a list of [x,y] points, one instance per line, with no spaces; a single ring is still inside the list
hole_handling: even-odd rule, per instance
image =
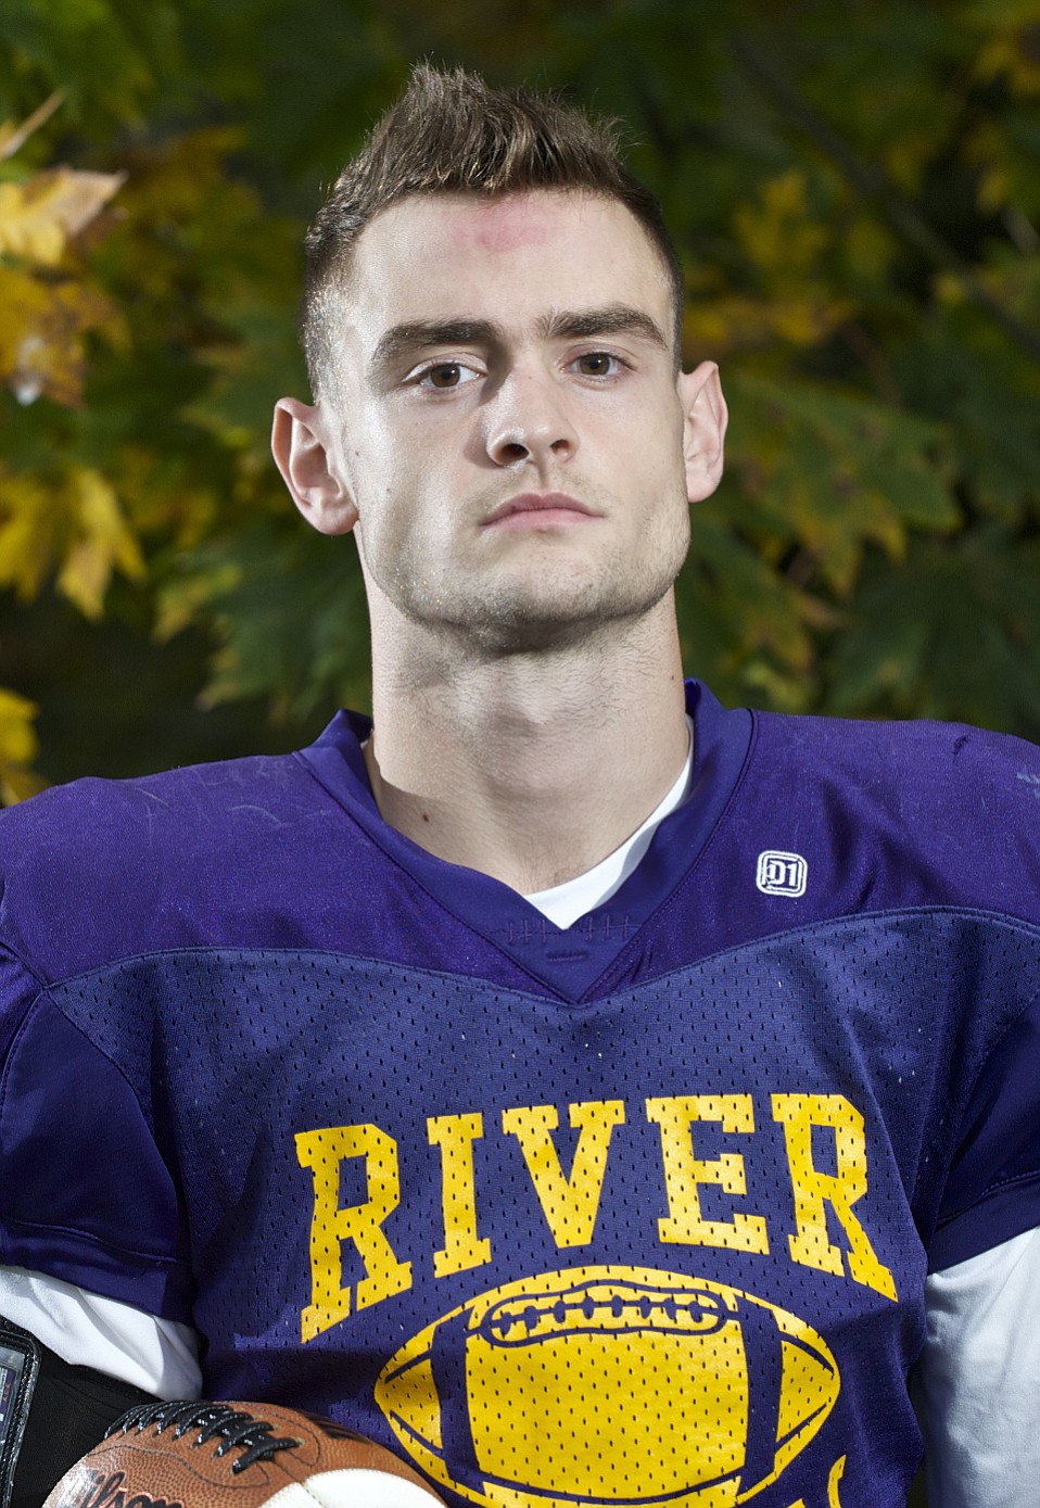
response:
[[[0,253],[57,267],[69,241],[99,214],[125,176],[51,167],[26,182],[0,182]]]

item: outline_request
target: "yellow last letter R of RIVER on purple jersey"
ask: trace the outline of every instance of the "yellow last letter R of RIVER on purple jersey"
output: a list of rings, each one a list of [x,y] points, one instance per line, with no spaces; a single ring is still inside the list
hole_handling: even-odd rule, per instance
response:
[[[877,1261],[867,1232],[852,1212],[867,1193],[867,1137],[861,1113],[844,1095],[773,1095],[773,1120],[784,1123],[791,1170],[797,1234],[787,1240],[793,1259],[823,1273],[844,1271],[841,1247],[832,1246],[827,1235],[824,1203],[829,1203],[849,1237],[852,1277],[894,1300],[892,1274]],[[814,1125],[834,1129],[837,1173],[820,1173],[812,1164]]]

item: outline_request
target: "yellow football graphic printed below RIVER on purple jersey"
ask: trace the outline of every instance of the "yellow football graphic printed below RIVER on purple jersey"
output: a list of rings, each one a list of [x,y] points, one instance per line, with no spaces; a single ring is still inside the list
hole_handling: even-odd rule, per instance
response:
[[[781,1475],[840,1387],[826,1341],[775,1304],[577,1267],[427,1326],[375,1399],[433,1481],[488,1508],[730,1508]]]

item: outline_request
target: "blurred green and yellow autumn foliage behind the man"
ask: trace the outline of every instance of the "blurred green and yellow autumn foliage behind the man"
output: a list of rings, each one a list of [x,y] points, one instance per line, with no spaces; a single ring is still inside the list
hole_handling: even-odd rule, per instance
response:
[[[419,56],[627,122],[719,360],[687,665],[1040,736],[1040,0],[0,0],[0,786],[365,703],[268,460],[298,246]]]

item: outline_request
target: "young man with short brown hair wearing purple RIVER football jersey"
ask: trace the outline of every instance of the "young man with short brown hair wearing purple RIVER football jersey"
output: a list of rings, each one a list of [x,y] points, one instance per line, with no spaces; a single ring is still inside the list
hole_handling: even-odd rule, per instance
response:
[[[1032,1502],[1040,754],[684,688],[725,404],[583,116],[418,69],[309,252],[374,728],[5,817],[0,1312],[502,1508],[895,1508],[924,1348]]]

